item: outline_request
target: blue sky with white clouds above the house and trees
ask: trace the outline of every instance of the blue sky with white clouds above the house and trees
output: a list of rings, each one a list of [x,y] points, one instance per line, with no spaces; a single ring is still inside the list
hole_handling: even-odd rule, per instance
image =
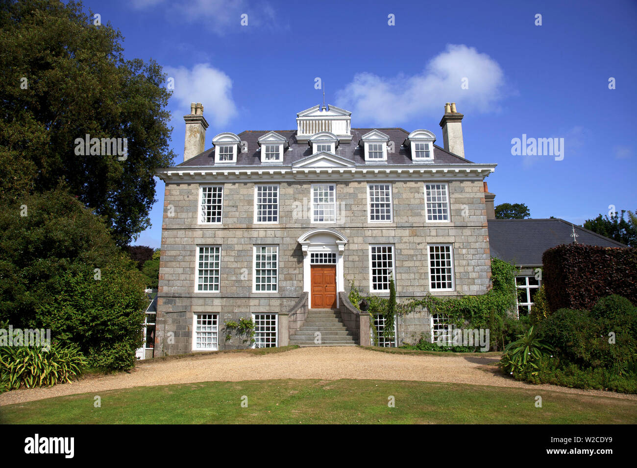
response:
[[[575,223],[609,205],[637,209],[635,1],[84,6],[122,32],[127,58],[153,58],[175,78],[175,164],[191,101],[204,105],[208,148],[223,131],[294,129],[296,113],[322,101],[319,77],[327,103],[352,111],[352,127],[424,128],[440,146],[444,104],[457,103],[466,157],[498,164],[487,178],[496,204],[524,202],[534,218]],[[564,138],[564,159],[512,155],[522,134]],[[153,225],[135,244],[159,247],[163,192],[158,181]]]

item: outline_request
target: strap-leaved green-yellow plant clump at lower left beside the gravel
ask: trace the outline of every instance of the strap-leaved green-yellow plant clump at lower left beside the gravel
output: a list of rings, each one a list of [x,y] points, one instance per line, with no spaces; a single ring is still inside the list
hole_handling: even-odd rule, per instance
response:
[[[14,390],[25,386],[52,386],[70,382],[82,372],[87,361],[78,346],[50,350],[30,346],[0,348],[0,388]]]

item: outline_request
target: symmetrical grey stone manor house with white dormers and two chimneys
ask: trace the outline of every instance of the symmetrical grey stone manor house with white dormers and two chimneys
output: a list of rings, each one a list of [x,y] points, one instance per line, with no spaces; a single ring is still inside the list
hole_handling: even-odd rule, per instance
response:
[[[441,147],[432,131],[352,128],[350,112],[323,105],[297,113],[294,130],[224,132],[209,146],[192,103],[183,163],[157,173],[155,356],[250,346],[227,339],[240,318],[254,320],[254,346],[369,344],[369,321],[383,318],[348,301],[352,281],[388,296],[394,278],[399,301],[487,292],[484,179],[496,164],[464,157],[462,118],[445,104]],[[444,327],[422,311],[380,344]]]

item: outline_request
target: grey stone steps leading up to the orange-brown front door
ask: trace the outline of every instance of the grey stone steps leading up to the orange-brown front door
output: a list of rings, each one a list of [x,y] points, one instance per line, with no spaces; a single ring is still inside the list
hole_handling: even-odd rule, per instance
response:
[[[320,343],[315,343],[320,332]],[[290,336],[290,344],[299,346],[354,346],[354,337],[348,332],[339,309],[309,309],[303,327]]]

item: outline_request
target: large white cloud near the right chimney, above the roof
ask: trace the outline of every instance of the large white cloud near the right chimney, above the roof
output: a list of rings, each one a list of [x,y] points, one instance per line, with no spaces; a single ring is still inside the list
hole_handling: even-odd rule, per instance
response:
[[[468,88],[462,89],[463,78]],[[384,78],[358,73],[336,93],[336,105],[357,119],[374,124],[405,122],[413,117],[440,117],[444,103],[455,102],[459,112],[489,112],[512,92],[505,92],[504,73],[485,53],[466,45],[447,45],[420,74]]]

